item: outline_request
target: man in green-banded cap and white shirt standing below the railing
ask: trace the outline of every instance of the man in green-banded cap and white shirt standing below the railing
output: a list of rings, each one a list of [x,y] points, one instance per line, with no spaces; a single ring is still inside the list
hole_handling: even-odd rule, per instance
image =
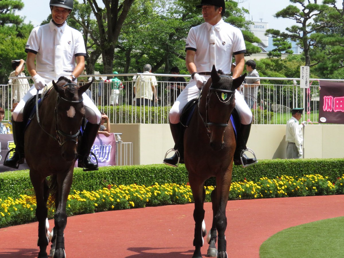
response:
[[[301,159],[302,158],[302,127],[304,123],[299,125],[303,108],[293,108],[291,110],[292,117],[287,122],[286,142],[287,142],[287,159]]]

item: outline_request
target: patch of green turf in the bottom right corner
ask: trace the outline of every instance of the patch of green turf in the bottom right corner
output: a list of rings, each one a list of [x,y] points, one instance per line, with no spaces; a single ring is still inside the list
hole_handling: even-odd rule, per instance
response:
[[[260,258],[344,257],[344,217],[290,227],[268,238]]]

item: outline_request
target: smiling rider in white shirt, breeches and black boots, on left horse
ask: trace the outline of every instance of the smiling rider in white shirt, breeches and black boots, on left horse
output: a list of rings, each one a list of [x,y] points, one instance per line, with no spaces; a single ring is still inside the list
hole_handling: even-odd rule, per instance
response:
[[[26,43],[28,53],[26,64],[34,81],[34,86],[25,94],[12,113],[13,138],[15,152],[4,165],[16,168],[24,162],[24,122],[23,108],[37,90],[42,92],[45,84],[66,76],[76,82],[85,67],[85,44],[83,35],[66,23],[73,10],[73,0],[50,0],[52,20],[49,24],[34,28]],[[35,64],[36,61],[36,64]],[[76,63],[76,65],[75,65]],[[78,166],[85,170],[97,170],[97,164],[90,161],[89,153],[97,136],[101,114],[93,101],[83,94],[85,106],[85,127],[81,141],[78,143]]]

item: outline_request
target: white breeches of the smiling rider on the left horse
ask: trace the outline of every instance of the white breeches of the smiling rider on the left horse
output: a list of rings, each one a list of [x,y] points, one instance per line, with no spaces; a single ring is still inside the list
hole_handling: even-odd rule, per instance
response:
[[[55,75],[54,72],[46,72],[46,73],[40,73],[40,76],[44,78],[45,83],[49,84],[52,80],[57,81],[58,78],[53,77]],[[69,76],[69,74],[61,74],[62,76]],[[43,90],[40,90],[39,93],[42,93]],[[26,92],[25,96],[19,101],[17,107],[13,110],[12,113],[12,119],[15,122],[22,122],[23,121],[23,110],[26,101],[31,99],[32,96],[35,96],[37,94],[37,90],[35,88],[35,85],[32,85],[32,87]],[[93,124],[99,124],[101,120],[101,114],[96,105],[94,105],[92,99],[90,99],[86,93],[83,93],[83,104],[85,107],[85,118],[87,119],[88,122],[93,123]]]

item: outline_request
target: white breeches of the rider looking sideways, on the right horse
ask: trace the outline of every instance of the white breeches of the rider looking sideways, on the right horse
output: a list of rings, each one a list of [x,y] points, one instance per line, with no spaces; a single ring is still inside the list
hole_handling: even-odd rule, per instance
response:
[[[209,78],[209,76],[204,77],[206,79]],[[190,83],[184,88],[184,90],[182,90],[181,94],[174,101],[169,113],[170,123],[179,123],[183,108],[190,100],[196,97],[198,97],[198,87],[196,86],[196,82],[191,79]],[[240,123],[243,125],[249,125],[252,121],[252,112],[238,90],[235,90],[235,109],[238,111]]]

